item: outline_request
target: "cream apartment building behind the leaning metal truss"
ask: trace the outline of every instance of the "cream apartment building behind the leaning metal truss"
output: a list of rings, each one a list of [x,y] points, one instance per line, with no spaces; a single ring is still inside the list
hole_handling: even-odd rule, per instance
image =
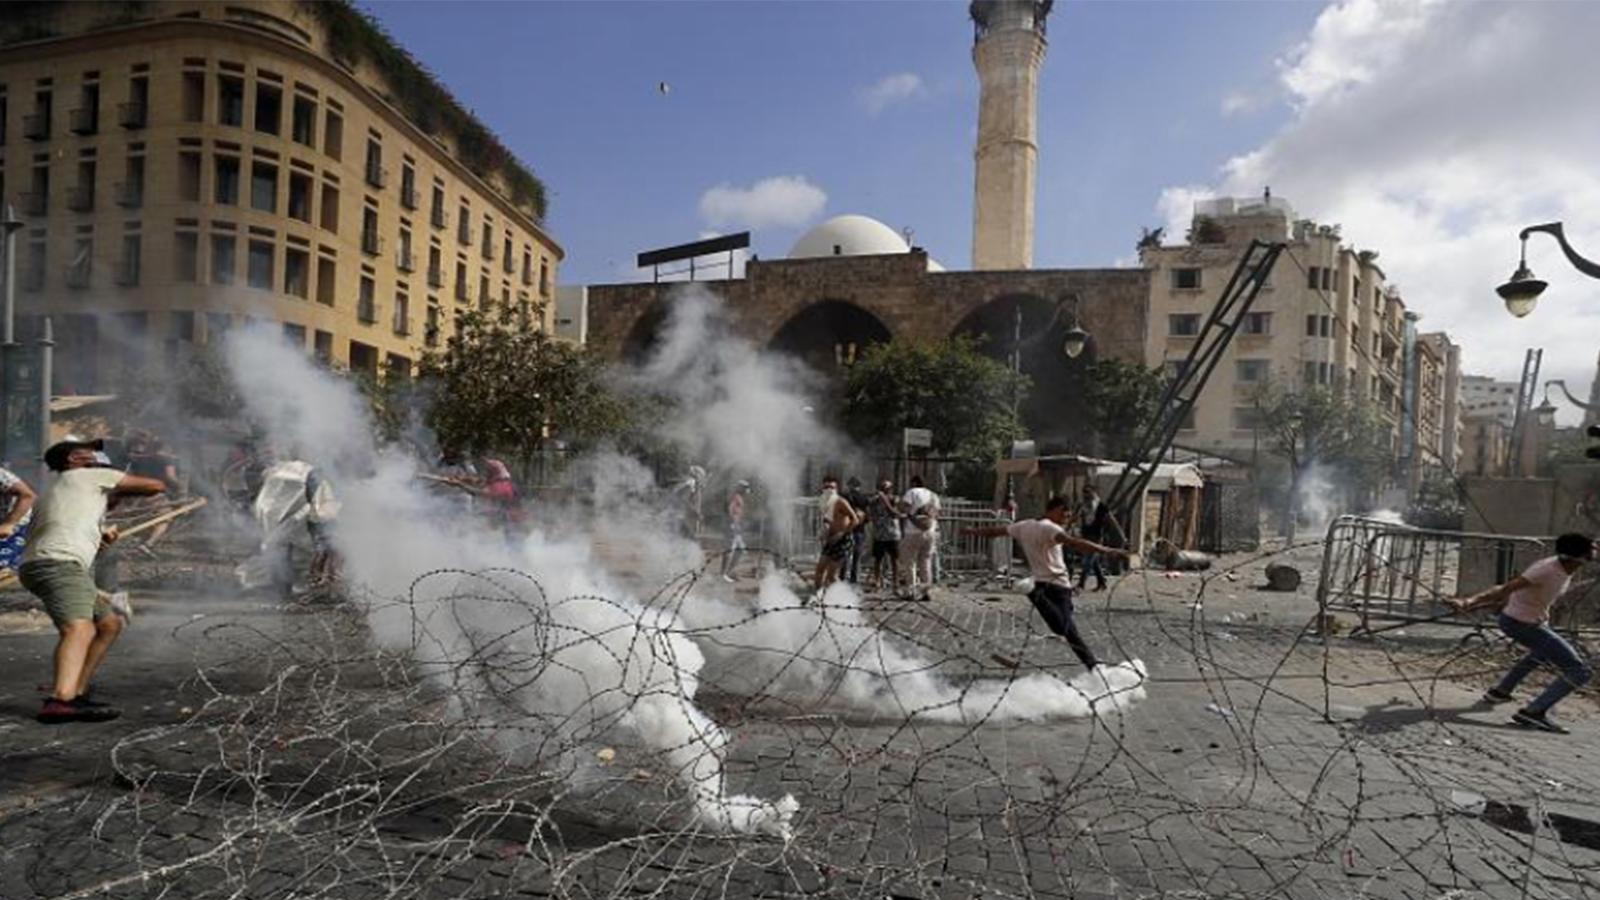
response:
[[[1184,243],[1139,251],[1150,279],[1149,365],[1184,357],[1253,239],[1282,240],[1267,287],[1211,373],[1178,444],[1246,458],[1256,444],[1254,397],[1266,384],[1349,386],[1389,426],[1398,460],[1413,418],[1406,372],[1414,327],[1378,253],[1354,250],[1338,226],[1298,219],[1280,197],[1218,199],[1195,205]]]

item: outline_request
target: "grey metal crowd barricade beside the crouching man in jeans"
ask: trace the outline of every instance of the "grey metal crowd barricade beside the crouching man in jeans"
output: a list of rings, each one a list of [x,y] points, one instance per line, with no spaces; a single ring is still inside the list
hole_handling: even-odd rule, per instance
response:
[[[1504,583],[1549,552],[1544,538],[1341,516],[1323,543],[1317,610],[1357,613],[1352,634],[1371,633],[1373,620],[1477,626],[1482,618],[1450,615],[1443,601]]]

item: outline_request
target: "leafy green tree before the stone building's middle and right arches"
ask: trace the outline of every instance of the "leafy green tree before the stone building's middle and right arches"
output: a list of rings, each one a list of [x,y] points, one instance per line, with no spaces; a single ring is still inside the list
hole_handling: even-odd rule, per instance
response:
[[[845,378],[845,429],[882,447],[926,428],[938,455],[992,460],[1024,434],[1016,408],[1027,388],[971,338],[874,344]]]

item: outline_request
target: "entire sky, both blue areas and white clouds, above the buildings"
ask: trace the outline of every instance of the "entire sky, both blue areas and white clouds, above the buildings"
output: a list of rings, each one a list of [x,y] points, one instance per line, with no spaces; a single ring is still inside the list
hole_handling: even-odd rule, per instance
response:
[[[363,6],[546,181],[566,283],[742,229],[782,256],[843,213],[968,264],[965,3]],[[1587,396],[1600,282],[1536,235],[1539,309],[1515,320],[1493,288],[1526,224],[1566,221],[1600,259],[1600,3],[1058,0],[1048,29],[1035,266],[1133,264],[1141,227],[1176,237],[1195,199],[1270,186],[1379,251],[1467,372],[1515,380],[1539,346],[1544,378]]]

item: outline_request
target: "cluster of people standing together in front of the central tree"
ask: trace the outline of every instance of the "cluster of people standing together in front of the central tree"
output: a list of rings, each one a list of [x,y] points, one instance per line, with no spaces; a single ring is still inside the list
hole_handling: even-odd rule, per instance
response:
[[[933,588],[933,552],[939,543],[939,495],[923,484],[922,476],[912,476],[904,495],[896,495],[888,479],[880,480],[872,495],[861,488],[856,477],[845,482],[845,488],[838,490],[835,476],[822,479],[818,498],[821,552],[813,573],[818,593],[840,578],[859,583],[861,562],[870,544],[872,588],[899,589],[904,557],[910,596],[926,601]],[[888,581],[883,580],[885,567],[890,570]]]

